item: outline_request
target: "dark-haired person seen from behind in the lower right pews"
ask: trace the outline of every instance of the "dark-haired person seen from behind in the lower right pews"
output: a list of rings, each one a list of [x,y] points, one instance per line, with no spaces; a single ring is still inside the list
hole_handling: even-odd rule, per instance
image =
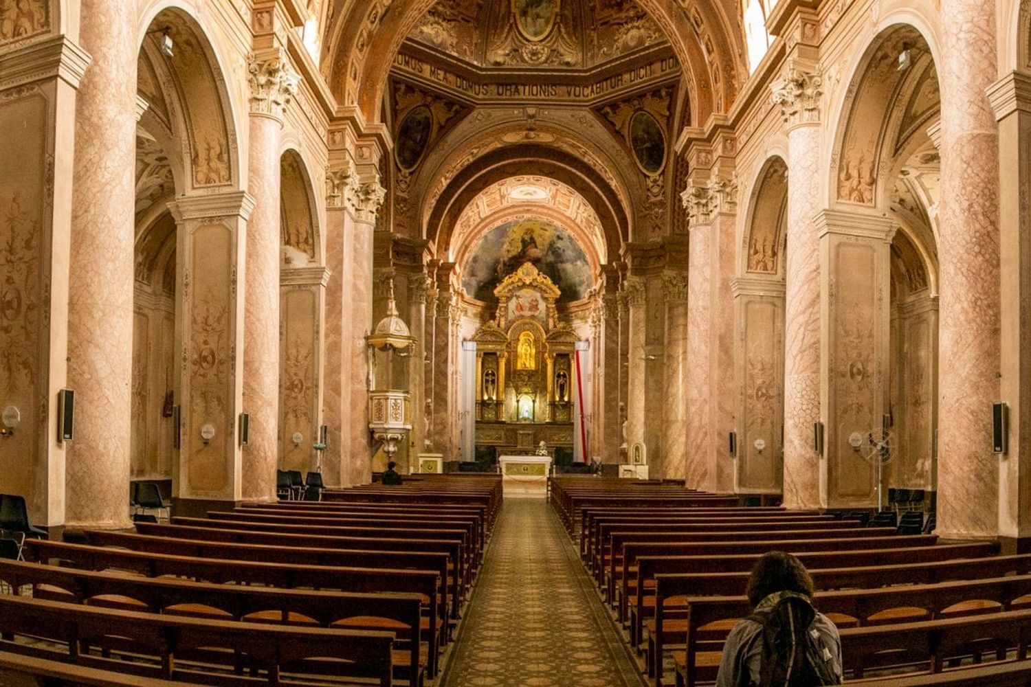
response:
[[[840,685],[837,627],[812,608],[812,578],[797,557],[763,554],[745,591],[752,614],[727,636],[717,687]]]

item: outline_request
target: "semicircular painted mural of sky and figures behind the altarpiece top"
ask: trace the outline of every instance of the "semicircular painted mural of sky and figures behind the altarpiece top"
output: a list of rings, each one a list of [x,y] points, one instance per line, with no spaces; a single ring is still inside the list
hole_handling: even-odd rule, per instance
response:
[[[462,267],[469,296],[495,303],[494,288],[523,263],[531,263],[562,290],[559,303],[578,301],[591,288],[591,270],[576,240],[540,219],[518,219],[495,227],[473,247]]]

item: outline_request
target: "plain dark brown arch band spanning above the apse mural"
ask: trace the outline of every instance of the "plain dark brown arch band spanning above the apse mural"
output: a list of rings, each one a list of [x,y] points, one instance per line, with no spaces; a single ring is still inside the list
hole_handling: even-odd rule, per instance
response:
[[[501,179],[532,173],[575,188],[598,213],[606,250],[618,255],[629,237],[628,218],[613,192],[596,170],[559,150],[534,144],[514,145],[489,152],[463,168],[429,208],[426,236],[438,250],[451,244],[451,234],[462,210],[484,188]]]

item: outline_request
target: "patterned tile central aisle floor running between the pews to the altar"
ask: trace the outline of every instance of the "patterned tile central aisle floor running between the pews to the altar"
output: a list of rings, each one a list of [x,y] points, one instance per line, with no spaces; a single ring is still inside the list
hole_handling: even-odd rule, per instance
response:
[[[507,499],[444,687],[640,687],[640,672],[542,499]]]

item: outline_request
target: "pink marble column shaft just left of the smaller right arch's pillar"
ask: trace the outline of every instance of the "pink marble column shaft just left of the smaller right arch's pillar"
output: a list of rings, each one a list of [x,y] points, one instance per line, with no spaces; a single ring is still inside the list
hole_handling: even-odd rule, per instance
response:
[[[688,264],[688,413],[685,423],[687,446],[684,476],[692,489],[716,490],[716,455],[709,393],[711,369],[711,229],[696,225],[690,229],[691,252]]]

